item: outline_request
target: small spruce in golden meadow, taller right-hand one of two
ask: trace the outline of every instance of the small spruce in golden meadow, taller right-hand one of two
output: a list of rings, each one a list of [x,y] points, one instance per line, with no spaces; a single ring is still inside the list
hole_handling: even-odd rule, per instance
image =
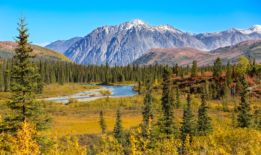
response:
[[[122,122],[121,115],[122,115],[122,113],[121,113],[121,109],[120,109],[120,105],[119,105],[117,108],[117,119],[116,119],[116,124],[113,129],[113,135],[118,140],[118,142],[124,146],[126,141],[125,141],[125,132],[124,132],[122,124],[121,124],[121,122]]]

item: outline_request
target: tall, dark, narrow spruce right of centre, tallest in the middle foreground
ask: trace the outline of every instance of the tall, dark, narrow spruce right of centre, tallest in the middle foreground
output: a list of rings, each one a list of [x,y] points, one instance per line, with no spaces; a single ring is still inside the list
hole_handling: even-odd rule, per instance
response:
[[[164,68],[163,74],[163,93],[161,97],[161,108],[164,115],[164,133],[166,135],[173,134],[173,107],[174,107],[174,100],[173,100],[173,88],[172,83],[170,80],[170,69],[169,67]]]

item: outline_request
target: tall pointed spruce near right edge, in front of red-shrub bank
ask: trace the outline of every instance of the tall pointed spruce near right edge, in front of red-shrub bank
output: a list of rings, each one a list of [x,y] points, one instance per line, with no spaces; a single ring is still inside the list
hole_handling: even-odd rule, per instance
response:
[[[248,90],[247,90],[247,80],[246,80],[246,75],[243,73],[242,76],[242,88],[241,88],[241,103],[238,106],[238,126],[241,128],[244,127],[251,127],[252,123],[251,123],[251,119],[252,119],[252,115],[250,113],[251,107],[250,107],[250,103],[247,101],[248,99]]]

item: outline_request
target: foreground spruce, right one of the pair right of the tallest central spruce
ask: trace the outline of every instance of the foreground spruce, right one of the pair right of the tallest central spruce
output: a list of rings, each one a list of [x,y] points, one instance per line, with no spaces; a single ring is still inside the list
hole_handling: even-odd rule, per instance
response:
[[[198,109],[197,133],[198,135],[206,135],[212,132],[211,117],[208,116],[205,90],[203,90],[201,105]]]

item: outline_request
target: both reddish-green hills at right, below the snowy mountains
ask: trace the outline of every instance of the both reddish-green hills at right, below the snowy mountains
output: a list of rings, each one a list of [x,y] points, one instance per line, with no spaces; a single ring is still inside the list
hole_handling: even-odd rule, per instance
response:
[[[149,64],[173,64],[191,65],[193,60],[197,60],[198,65],[212,65],[220,57],[223,64],[228,60],[232,64],[237,63],[239,57],[251,55],[252,59],[255,57],[256,62],[261,62],[261,39],[252,39],[240,42],[233,46],[221,47],[210,52],[202,52],[198,49],[190,47],[177,47],[177,48],[151,48],[148,52],[141,55],[140,58],[133,61],[139,65]]]

